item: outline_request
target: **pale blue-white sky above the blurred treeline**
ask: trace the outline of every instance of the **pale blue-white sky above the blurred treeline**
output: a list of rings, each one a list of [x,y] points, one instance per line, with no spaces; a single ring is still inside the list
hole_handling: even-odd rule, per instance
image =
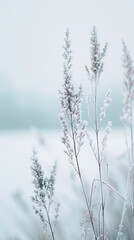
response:
[[[62,82],[62,45],[70,28],[74,80],[86,84],[89,37],[96,25],[108,41],[103,86],[122,81],[121,39],[134,55],[132,0],[0,0],[0,74],[17,89],[56,95]]]

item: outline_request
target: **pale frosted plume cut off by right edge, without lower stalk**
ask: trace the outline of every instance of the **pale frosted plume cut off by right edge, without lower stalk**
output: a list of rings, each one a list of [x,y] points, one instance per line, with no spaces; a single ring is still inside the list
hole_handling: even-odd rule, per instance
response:
[[[134,125],[134,64],[132,57],[125,42],[123,42],[123,68],[124,68],[124,83],[123,83],[123,116],[121,120],[124,122],[125,137],[128,151],[128,158],[130,166],[134,163],[134,149],[133,149],[133,125]],[[127,130],[129,133],[127,133]],[[128,136],[127,136],[128,135]],[[128,144],[130,140],[130,148]]]

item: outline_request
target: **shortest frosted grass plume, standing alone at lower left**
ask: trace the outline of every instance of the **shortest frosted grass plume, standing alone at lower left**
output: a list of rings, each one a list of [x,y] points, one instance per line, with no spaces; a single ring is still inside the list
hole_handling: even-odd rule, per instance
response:
[[[41,165],[38,161],[37,152],[33,150],[32,156],[32,175],[34,177],[34,196],[32,201],[34,202],[33,209],[35,213],[40,217],[42,226],[47,236],[55,240],[55,227],[58,221],[59,207],[58,203],[55,207],[55,217],[53,219],[51,215],[52,207],[54,207],[54,186],[56,176],[56,163],[53,166],[50,177],[44,177]]]

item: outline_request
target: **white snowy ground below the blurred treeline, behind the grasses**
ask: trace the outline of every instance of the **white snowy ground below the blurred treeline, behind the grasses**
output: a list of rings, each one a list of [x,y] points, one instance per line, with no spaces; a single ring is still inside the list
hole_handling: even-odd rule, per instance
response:
[[[56,200],[61,202],[59,219],[61,239],[78,240],[81,234],[79,222],[84,204],[77,176],[63,153],[61,132],[44,131],[40,133],[35,130],[0,133],[0,240],[11,239],[15,236],[19,236],[20,239],[37,240],[35,232],[38,226],[38,217],[32,215],[30,200],[33,193],[30,157],[34,146],[38,150],[39,160],[46,175],[51,170],[54,161],[58,162]],[[106,152],[109,161],[109,181],[123,195],[125,195],[128,171],[127,160],[122,157],[124,151],[123,131],[113,130]],[[88,145],[82,149],[80,165],[87,191],[90,192],[89,183],[98,176],[98,171]],[[18,204],[19,201],[15,201],[20,195],[31,209],[24,206],[21,201],[20,204]],[[113,211],[116,212],[117,209],[114,207],[116,204],[114,205],[113,202],[112,204]],[[36,221],[36,229],[34,221]],[[40,226],[39,231],[41,234]]]

